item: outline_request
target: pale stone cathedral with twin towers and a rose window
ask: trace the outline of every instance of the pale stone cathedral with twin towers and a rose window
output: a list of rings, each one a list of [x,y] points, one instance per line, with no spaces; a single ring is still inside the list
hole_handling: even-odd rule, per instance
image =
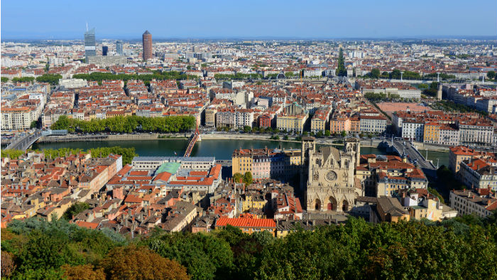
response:
[[[364,195],[361,182],[354,176],[360,154],[359,139],[346,139],[342,151],[332,146],[324,146],[317,151],[313,137],[302,139],[308,212],[346,212],[352,209],[356,198]]]

